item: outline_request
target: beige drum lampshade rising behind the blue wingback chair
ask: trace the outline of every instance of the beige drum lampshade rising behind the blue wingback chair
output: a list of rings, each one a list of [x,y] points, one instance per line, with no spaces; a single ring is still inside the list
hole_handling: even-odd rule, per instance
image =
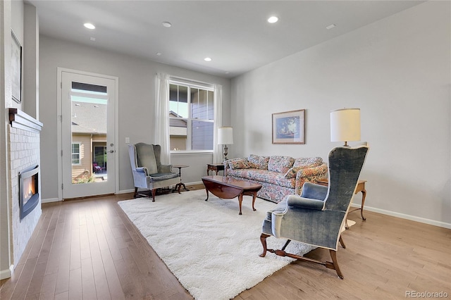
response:
[[[360,140],[360,108],[342,108],[330,112],[330,142]]]

